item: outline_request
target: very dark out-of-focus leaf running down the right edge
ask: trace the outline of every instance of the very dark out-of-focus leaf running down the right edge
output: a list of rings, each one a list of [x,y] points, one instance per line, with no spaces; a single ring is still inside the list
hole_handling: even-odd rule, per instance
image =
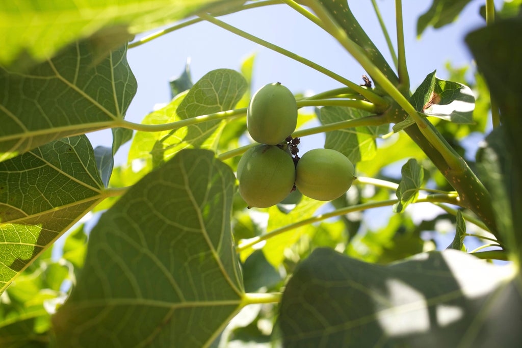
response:
[[[522,261],[522,17],[471,32],[466,43],[499,105],[502,126],[478,153],[481,178],[494,197],[496,223],[511,255]]]

